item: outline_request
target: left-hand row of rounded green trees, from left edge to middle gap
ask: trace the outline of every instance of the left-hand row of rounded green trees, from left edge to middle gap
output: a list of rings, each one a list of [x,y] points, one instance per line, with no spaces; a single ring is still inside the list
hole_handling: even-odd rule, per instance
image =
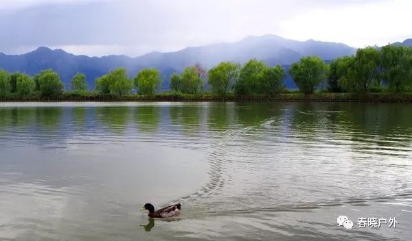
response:
[[[154,68],[146,68],[140,71],[134,85],[138,86],[140,94],[155,94],[155,90],[161,84],[161,75]],[[71,79],[71,91],[83,94],[88,92],[86,75],[77,73]],[[117,68],[114,71],[95,79],[95,90],[99,94],[124,95],[130,93],[133,82],[130,81],[125,68]],[[18,94],[21,97],[40,94],[43,97],[56,97],[62,94],[64,84],[58,73],[51,69],[41,71],[30,77],[24,73],[9,74],[0,70],[0,97],[10,94]]]

